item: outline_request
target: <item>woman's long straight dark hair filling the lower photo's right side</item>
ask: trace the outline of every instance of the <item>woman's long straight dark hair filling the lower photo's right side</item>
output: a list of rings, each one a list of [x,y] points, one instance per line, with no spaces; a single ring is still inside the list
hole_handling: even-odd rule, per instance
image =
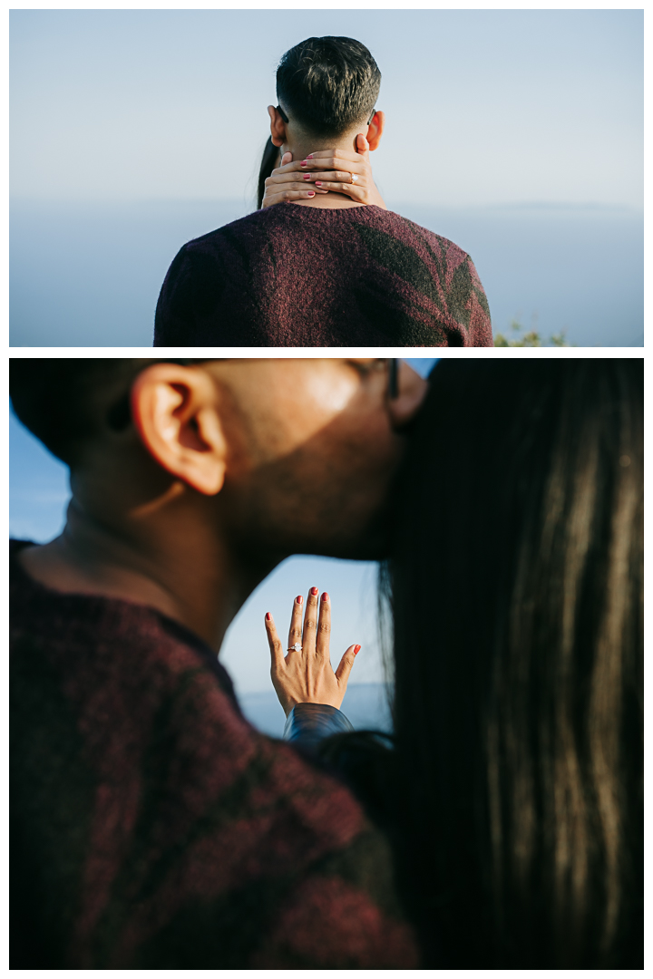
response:
[[[643,366],[447,359],[388,566],[425,967],[643,967]]]

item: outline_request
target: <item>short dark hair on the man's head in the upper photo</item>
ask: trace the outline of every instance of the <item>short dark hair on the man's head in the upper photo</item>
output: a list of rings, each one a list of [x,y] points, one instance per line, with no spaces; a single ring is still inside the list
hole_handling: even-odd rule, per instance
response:
[[[364,44],[350,37],[308,37],[277,69],[277,100],[314,135],[340,136],[367,121],[381,71]]]

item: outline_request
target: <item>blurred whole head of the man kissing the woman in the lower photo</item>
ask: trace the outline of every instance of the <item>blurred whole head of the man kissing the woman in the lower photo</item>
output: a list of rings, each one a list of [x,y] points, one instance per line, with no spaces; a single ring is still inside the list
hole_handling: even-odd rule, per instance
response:
[[[374,359],[15,359],[23,424],[120,532],[195,522],[267,555],[374,556],[423,382]]]

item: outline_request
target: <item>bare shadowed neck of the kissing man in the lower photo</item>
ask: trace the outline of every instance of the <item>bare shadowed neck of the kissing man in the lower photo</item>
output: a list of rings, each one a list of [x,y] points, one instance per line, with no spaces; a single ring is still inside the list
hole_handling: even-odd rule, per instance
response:
[[[170,533],[120,531],[71,502],[63,534],[25,548],[19,561],[55,591],[101,595],[147,605],[195,632],[217,652],[233,618],[257,584],[283,559],[257,567],[239,561],[206,527],[180,520]],[[154,532],[154,533],[153,533]]]

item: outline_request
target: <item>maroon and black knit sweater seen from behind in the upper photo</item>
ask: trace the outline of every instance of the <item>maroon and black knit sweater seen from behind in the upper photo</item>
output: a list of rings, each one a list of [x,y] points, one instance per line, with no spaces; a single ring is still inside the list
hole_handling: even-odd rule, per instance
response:
[[[470,256],[392,210],[277,204],[189,242],[155,347],[491,347]]]

